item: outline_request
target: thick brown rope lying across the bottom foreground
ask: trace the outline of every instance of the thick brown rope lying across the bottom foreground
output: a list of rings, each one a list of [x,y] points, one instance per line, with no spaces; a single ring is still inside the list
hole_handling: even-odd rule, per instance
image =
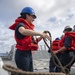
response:
[[[27,72],[21,69],[15,68],[11,65],[4,64],[3,69],[11,72],[11,74],[19,74],[19,75],[66,75],[64,73],[50,73],[50,72]]]

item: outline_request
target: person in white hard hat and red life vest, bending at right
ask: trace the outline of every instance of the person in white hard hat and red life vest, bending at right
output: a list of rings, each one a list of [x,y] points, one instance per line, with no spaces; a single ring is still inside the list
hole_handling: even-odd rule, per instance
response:
[[[54,51],[55,54],[62,52],[59,60],[63,66],[70,63],[74,54],[75,54],[75,32],[72,31],[72,28],[68,25],[64,28],[64,36],[60,41],[60,49]],[[66,72],[70,72],[71,66],[75,60],[66,68]],[[61,72],[61,68],[57,68],[58,72]]]

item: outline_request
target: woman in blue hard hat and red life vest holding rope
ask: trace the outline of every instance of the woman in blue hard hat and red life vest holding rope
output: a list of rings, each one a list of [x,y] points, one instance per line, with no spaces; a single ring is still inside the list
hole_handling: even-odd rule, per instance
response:
[[[16,41],[15,62],[19,69],[24,71],[33,71],[32,50],[38,50],[38,42],[44,39],[50,39],[46,33],[34,30],[33,21],[37,18],[35,11],[31,7],[25,7],[20,13],[20,17],[9,28],[15,31]],[[40,36],[33,41],[33,36]]]

